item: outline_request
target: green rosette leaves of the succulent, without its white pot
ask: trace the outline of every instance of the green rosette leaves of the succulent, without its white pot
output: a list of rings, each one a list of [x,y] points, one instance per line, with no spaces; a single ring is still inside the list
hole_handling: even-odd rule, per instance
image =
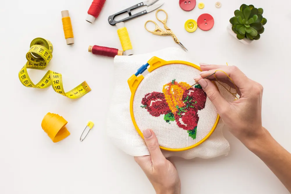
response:
[[[237,34],[237,39],[259,40],[260,34],[265,30],[267,19],[262,16],[262,8],[253,5],[242,4],[239,10],[235,10],[235,16],[229,22],[233,25],[232,30]]]

